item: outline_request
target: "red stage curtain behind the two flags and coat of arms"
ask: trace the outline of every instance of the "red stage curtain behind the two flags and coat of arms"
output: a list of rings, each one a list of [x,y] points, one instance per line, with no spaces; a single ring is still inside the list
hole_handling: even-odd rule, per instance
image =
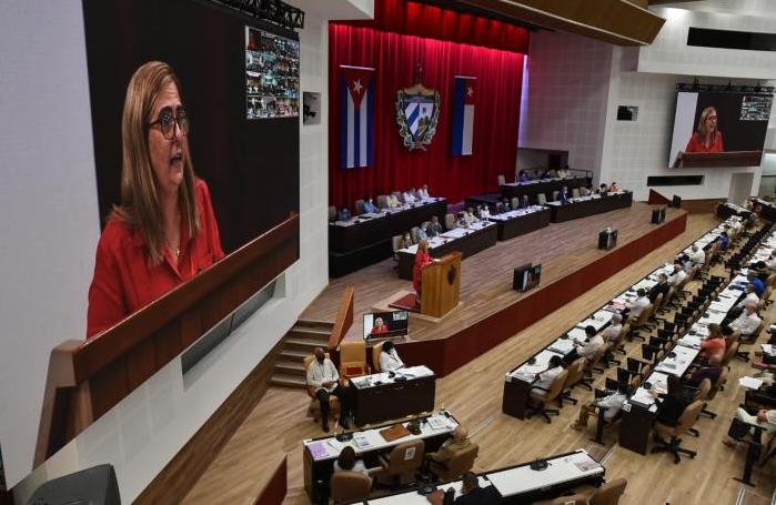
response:
[[[514,173],[523,54],[341,23],[330,24],[329,42],[331,205],[352,209],[355,200],[365,195],[387,194],[423,183],[429,184],[433,195],[456,202],[467,195],[496,191],[496,176]],[[410,152],[402,145],[395,120],[396,91],[414,83],[415,63],[423,65],[423,83],[441,94],[436,134],[424,152]],[[374,155],[370,168],[339,166],[341,64],[375,69]],[[468,156],[450,154],[454,75],[477,78],[474,154]]]

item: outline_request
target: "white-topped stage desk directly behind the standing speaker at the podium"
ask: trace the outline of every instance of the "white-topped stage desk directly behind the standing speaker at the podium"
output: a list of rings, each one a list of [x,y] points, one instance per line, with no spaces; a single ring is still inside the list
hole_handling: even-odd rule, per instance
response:
[[[454,228],[434,236],[429,241],[429,254],[442,257],[453,251],[461,251],[463,257],[468,257],[480,251],[496,244],[498,226],[490,221],[480,221],[468,228]],[[415,264],[417,245],[401,249],[399,255],[399,279],[412,281],[412,267]]]

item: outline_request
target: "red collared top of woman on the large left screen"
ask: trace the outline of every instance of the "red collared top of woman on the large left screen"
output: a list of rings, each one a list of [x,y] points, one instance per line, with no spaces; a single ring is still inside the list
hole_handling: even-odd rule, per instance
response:
[[[87,339],[91,339],[196,275],[224,256],[210,191],[195,181],[200,232],[189,236],[181,220],[179,261],[164,250],[164,261],[151,266],[140,230],[111,216],[97,244],[94,277],[89,287]]]

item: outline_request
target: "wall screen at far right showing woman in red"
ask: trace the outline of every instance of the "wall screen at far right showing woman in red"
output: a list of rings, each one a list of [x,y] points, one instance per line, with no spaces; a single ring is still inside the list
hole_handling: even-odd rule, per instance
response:
[[[672,168],[759,166],[773,94],[679,91]]]

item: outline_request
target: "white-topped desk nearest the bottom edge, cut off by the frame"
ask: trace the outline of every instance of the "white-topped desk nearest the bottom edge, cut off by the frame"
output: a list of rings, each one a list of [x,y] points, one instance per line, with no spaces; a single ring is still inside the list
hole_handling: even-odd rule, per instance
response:
[[[545,461],[547,467],[542,471],[532,469],[533,462],[531,462],[480,474],[480,487],[494,486],[501,495],[501,503],[504,504],[531,504],[540,499],[554,498],[583,484],[599,486],[604,482],[606,469],[584,450],[561,454]],[[455,489],[455,497],[461,496],[460,479],[440,484],[436,487],[443,491],[452,487]],[[427,505],[429,501],[413,489],[363,503]]]

